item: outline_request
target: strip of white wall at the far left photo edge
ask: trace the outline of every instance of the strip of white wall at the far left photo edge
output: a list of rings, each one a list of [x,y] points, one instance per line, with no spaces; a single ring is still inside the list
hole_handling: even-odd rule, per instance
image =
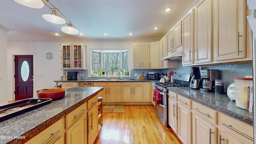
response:
[[[8,104],[7,32],[0,29],[0,106]]]

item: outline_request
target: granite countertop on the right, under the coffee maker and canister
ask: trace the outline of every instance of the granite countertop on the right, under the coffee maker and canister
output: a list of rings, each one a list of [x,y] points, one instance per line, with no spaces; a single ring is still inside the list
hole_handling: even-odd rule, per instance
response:
[[[236,102],[231,101],[226,94],[215,94],[214,92],[202,92],[188,87],[169,87],[168,90],[195,102],[208,106],[218,112],[253,125],[253,113],[236,107]]]

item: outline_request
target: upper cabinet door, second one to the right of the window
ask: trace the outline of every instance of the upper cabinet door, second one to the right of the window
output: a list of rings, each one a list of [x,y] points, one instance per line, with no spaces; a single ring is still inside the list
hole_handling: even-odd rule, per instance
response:
[[[141,44],[142,68],[149,68],[149,44]]]

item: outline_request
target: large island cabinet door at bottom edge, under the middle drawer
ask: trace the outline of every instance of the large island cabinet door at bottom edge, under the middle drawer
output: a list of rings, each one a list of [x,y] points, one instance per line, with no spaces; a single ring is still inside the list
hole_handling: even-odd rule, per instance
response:
[[[87,143],[87,113],[66,131],[67,144]]]

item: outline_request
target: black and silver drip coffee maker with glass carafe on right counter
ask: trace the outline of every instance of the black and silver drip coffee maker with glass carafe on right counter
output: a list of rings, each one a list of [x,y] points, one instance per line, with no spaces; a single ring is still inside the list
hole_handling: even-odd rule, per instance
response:
[[[215,90],[215,80],[220,79],[219,70],[201,70],[201,81],[203,92],[214,92]]]

